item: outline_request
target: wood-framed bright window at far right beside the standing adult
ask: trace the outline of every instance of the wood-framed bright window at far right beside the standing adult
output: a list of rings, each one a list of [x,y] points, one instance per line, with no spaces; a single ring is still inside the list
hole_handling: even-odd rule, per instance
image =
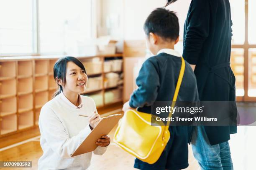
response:
[[[236,94],[241,97],[238,100],[244,101],[256,101],[255,6],[255,0],[230,0],[233,20],[230,62],[236,76]]]

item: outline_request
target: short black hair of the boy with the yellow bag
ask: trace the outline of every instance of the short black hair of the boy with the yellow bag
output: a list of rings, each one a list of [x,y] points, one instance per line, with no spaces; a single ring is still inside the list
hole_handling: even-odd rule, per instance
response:
[[[164,40],[175,41],[179,37],[179,19],[173,11],[156,8],[146,19],[144,31],[152,32]]]

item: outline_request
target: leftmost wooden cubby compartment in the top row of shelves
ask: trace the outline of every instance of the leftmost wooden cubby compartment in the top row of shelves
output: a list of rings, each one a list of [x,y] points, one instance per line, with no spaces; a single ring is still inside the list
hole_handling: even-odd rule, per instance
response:
[[[0,80],[5,78],[15,77],[16,68],[15,62],[0,62]]]

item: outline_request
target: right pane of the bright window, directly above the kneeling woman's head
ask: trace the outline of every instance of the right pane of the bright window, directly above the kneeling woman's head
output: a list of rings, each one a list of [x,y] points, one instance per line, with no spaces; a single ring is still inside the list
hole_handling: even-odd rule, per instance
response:
[[[40,52],[77,53],[92,35],[91,9],[91,0],[39,0]]]

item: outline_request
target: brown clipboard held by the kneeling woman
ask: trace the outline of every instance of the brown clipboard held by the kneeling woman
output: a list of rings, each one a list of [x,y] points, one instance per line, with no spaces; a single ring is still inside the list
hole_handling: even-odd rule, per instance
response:
[[[71,157],[94,151],[98,146],[96,145],[96,141],[103,135],[108,135],[108,133],[110,133],[110,131],[115,127],[122,117],[123,114],[103,117],[98,125],[87,136],[87,138],[81,143],[81,145],[79,145]]]

